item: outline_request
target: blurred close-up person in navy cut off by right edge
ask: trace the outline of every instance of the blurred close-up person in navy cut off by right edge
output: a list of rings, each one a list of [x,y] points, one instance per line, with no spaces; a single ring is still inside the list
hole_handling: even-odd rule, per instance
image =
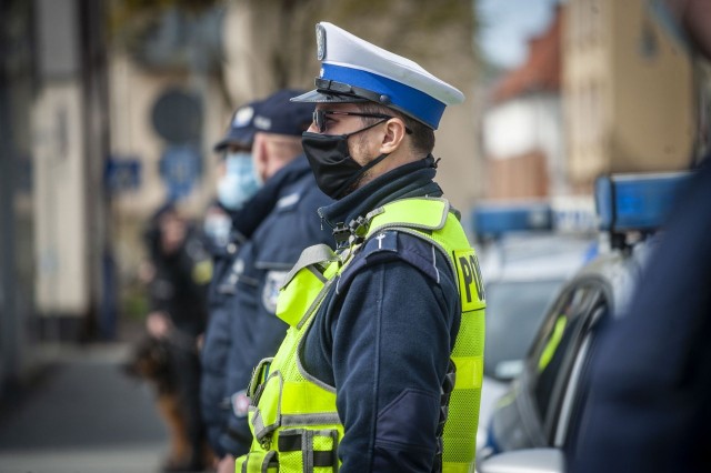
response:
[[[710,0],[650,0],[648,7],[695,66],[711,60]],[[708,149],[674,209],[629,315],[599,340],[579,442],[567,452],[571,472],[711,471]]]

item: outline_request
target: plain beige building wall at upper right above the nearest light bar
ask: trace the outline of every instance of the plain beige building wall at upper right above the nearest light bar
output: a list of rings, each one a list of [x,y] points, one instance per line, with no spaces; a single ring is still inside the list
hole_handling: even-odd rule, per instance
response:
[[[643,2],[614,6],[611,170],[685,169],[695,111],[690,57]]]

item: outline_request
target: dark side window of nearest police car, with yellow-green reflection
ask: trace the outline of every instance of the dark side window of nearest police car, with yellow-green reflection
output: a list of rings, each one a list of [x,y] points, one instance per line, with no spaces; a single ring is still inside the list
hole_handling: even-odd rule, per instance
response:
[[[579,283],[562,292],[545,315],[528,366],[532,394],[545,432],[551,432],[564,394],[574,352],[582,342],[585,316],[600,298],[592,283]]]

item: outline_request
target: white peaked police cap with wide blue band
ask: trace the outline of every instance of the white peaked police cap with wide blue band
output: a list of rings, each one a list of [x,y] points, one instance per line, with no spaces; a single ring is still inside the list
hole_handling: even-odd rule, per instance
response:
[[[316,90],[294,102],[371,101],[398,110],[437,130],[444,108],[464,94],[418,63],[385,51],[328,22],[316,26],[321,71]]]

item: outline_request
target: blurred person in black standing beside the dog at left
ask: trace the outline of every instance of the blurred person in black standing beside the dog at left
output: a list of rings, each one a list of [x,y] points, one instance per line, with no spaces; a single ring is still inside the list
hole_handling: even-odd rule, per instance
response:
[[[146,325],[149,335],[167,349],[168,385],[174,386],[170,394],[179,400],[178,412],[168,404],[159,406],[169,429],[184,429],[189,443],[179,451],[173,449],[164,471],[201,471],[209,454],[200,420],[198,340],[207,322],[212,265],[200,234],[172,202],[153,214],[144,236],[150,258]]]

